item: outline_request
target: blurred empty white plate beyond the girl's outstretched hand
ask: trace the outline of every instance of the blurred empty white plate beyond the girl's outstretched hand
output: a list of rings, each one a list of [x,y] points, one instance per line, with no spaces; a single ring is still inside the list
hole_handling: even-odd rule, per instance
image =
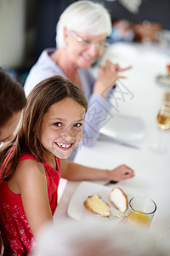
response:
[[[138,117],[115,114],[99,132],[125,143],[139,143],[144,139],[144,122]]]

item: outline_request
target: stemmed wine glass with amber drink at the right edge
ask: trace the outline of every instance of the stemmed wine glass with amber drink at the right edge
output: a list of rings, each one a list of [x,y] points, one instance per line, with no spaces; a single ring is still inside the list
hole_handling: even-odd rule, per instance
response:
[[[161,130],[158,141],[150,146],[150,150],[156,153],[163,154],[167,151],[166,146],[162,143],[162,132],[170,131],[170,104],[161,106],[161,109],[156,116],[156,124],[158,129]]]

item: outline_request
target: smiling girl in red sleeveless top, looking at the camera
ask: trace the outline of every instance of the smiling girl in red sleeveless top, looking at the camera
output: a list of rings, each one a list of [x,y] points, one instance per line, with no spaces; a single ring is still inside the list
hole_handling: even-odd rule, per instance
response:
[[[37,231],[53,218],[60,176],[115,181],[133,177],[127,166],[105,171],[65,161],[82,139],[87,108],[77,85],[60,76],[45,79],[31,90],[18,135],[0,152],[5,255],[26,255],[33,250]]]

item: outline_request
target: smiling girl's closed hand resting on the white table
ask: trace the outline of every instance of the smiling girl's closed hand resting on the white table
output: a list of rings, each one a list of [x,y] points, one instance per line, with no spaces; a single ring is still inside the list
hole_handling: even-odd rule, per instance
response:
[[[134,172],[130,167],[126,165],[122,165],[122,166],[116,167],[111,171],[108,171],[108,176],[109,176],[108,177],[109,180],[118,182],[120,180],[133,177]]]

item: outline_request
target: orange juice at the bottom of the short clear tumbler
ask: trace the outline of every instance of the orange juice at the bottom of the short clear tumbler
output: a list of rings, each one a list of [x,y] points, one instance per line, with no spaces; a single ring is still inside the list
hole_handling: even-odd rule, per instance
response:
[[[140,214],[141,213],[141,214]],[[150,217],[145,212],[130,212],[127,222],[133,222],[142,226],[150,226]]]

